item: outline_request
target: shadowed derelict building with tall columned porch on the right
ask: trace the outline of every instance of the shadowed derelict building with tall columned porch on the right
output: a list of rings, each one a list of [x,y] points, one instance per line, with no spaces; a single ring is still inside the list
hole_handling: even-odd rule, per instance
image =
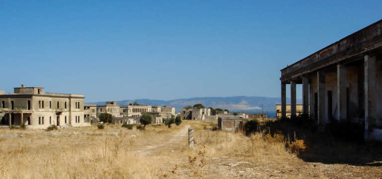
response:
[[[335,119],[364,126],[366,140],[382,140],[382,20],[281,70],[281,116],[296,113],[296,84],[302,84],[302,113],[319,128]],[[310,112],[309,112],[310,104]]]

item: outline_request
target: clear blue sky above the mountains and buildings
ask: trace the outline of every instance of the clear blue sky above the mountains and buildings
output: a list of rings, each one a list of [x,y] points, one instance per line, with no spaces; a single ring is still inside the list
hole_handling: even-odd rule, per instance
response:
[[[282,68],[380,20],[381,5],[0,0],[0,89],[86,101],[278,97]]]

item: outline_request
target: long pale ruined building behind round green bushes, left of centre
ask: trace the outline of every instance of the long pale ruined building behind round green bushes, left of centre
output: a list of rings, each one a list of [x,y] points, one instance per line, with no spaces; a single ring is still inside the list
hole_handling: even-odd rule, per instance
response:
[[[107,101],[104,105],[85,104],[85,112],[92,122],[98,122],[99,113],[109,113],[115,123],[139,124],[139,118],[144,113],[154,116],[152,123],[163,123],[163,118],[175,115],[175,107],[149,105],[119,105],[116,101]]]

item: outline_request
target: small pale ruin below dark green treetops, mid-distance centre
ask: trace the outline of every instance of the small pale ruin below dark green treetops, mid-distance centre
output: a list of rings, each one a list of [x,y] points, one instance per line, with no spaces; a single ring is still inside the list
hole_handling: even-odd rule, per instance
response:
[[[210,108],[182,108],[181,117],[190,120],[215,119],[215,116],[211,116]]]

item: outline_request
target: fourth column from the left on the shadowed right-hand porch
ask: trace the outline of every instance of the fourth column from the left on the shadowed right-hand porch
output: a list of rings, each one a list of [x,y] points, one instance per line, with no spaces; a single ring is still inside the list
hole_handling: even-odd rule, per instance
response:
[[[325,76],[317,72],[317,123],[325,124]]]

